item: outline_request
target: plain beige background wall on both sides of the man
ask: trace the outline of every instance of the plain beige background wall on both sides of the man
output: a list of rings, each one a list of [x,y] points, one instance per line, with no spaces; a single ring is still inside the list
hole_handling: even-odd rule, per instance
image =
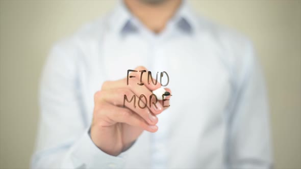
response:
[[[0,1],[1,168],[27,168],[49,48],[116,1]],[[200,14],[255,43],[271,107],[276,168],[301,168],[301,1],[192,1]]]

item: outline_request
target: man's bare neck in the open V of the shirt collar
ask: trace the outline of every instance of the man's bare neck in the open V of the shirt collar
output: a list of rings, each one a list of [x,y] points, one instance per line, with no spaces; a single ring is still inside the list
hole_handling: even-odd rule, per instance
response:
[[[160,33],[181,5],[181,0],[150,4],[142,0],[124,0],[124,4],[149,30]]]

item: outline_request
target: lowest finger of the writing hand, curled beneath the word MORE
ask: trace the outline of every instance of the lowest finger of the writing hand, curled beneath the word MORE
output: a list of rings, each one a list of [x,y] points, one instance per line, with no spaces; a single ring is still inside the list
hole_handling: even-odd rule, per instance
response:
[[[116,123],[126,123],[134,127],[140,127],[149,132],[156,132],[158,130],[158,126],[148,125],[140,116],[130,109],[117,107],[112,104],[106,104],[103,107],[100,118],[105,118],[106,121],[111,120]]]

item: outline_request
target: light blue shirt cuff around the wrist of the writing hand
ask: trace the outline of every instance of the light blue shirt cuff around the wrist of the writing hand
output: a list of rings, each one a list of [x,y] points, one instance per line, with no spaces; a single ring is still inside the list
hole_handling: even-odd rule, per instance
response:
[[[112,156],[99,149],[89,135],[89,129],[73,147],[72,163],[84,168],[122,168],[125,160],[120,156]]]

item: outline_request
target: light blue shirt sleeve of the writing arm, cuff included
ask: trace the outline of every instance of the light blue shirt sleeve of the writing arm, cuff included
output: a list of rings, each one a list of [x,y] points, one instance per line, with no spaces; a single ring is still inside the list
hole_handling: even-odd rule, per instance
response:
[[[71,43],[52,50],[40,89],[40,122],[32,168],[121,168],[121,156],[111,156],[92,142],[78,82],[79,51]]]

